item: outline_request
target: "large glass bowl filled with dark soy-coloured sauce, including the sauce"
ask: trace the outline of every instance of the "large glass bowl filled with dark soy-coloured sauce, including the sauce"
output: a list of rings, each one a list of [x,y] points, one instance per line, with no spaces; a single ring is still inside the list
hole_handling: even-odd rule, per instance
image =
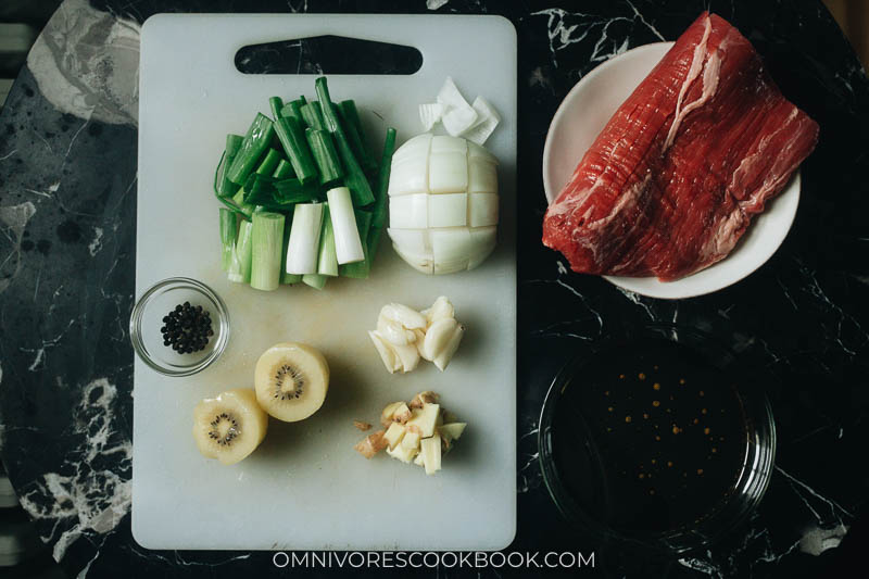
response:
[[[546,394],[538,443],[550,495],[575,526],[625,546],[708,545],[769,484],[776,427],[765,379],[693,328],[602,340]]]

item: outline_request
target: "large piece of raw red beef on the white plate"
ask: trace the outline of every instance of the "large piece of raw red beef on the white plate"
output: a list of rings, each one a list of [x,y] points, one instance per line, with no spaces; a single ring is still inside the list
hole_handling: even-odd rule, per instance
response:
[[[579,162],[543,243],[579,273],[688,276],[730,253],[817,140],[751,42],[704,12]]]

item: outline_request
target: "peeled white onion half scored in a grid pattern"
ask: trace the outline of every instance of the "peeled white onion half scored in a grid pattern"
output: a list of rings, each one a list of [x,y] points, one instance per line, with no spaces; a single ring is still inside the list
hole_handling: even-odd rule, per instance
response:
[[[473,269],[492,253],[498,230],[498,160],[461,137],[423,134],[392,158],[389,237],[426,274]]]

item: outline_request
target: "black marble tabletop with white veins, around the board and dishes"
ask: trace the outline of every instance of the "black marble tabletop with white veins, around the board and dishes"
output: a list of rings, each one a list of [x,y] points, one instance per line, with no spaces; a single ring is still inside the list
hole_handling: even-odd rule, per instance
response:
[[[552,114],[594,66],[675,39],[704,9],[736,25],[785,96],[820,123],[791,234],[745,280],[678,302],[568,273],[539,242]],[[138,34],[153,13],[200,11],[500,13],[516,25],[522,218],[512,550],[595,551],[594,569],[571,572],[582,577],[860,576],[843,569],[866,541],[869,490],[869,81],[819,1],[66,0],[0,114],[0,440],[25,509],[71,576],[305,574],[274,568],[270,553],[150,552],[130,536]],[[537,419],[562,364],[625,324],[652,320],[709,331],[769,372],[779,445],[769,491],[745,526],[709,550],[647,561],[559,519],[542,486]]]

